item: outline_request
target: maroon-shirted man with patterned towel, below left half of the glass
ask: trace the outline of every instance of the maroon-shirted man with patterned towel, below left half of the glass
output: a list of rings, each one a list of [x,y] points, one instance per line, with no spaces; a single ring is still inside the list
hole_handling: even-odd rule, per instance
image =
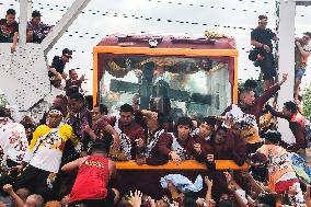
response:
[[[119,118],[112,116],[106,120],[114,126],[120,138],[120,148],[113,150],[111,156],[115,159],[133,160],[140,153],[145,147],[145,133],[141,126],[134,120],[134,108],[129,104],[124,104],[119,108]],[[114,151],[116,153],[114,153]],[[123,153],[123,158],[118,157],[118,152]]]

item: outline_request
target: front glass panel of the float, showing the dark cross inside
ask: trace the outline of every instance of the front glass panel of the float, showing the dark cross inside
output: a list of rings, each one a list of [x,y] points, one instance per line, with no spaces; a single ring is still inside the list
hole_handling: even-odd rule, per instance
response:
[[[101,102],[157,107],[173,119],[219,115],[231,103],[228,64],[206,57],[105,58]]]

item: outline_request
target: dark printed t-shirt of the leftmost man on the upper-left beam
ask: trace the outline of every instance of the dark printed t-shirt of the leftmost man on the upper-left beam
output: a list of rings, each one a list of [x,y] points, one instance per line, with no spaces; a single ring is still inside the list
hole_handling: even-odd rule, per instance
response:
[[[5,19],[0,20],[0,43],[12,43],[15,32],[19,32],[18,22],[8,25]]]

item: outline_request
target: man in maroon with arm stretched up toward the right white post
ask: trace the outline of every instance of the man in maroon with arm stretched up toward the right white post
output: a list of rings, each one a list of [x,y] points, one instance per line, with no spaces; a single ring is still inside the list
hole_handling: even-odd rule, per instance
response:
[[[280,85],[287,80],[287,73],[283,74],[281,81],[275,83],[273,87],[268,88],[261,96],[255,97],[255,92],[252,89],[244,89],[240,94],[241,102],[239,103],[239,107],[245,114],[252,114],[256,117],[257,125],[260,126],[260,117],[266,102],[273,97],[276,92],[280,89]],[[231,110],[232,106],[226,108],[224,115],[227,112]]]

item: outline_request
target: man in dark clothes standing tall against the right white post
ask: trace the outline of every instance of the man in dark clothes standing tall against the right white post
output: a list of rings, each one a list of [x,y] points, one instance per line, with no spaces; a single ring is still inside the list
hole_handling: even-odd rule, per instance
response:
[[[258,26],[251,33],[251,44],[255,47],[254,50],[258,53],[261,59],[258,66],[263,72],[263,88],[268,89],[274,84],[276,77],[275,60],[273,56],[273,43],[276,41],[276,34],[267,26],[267,16],[258,16]]]

